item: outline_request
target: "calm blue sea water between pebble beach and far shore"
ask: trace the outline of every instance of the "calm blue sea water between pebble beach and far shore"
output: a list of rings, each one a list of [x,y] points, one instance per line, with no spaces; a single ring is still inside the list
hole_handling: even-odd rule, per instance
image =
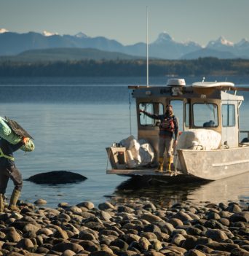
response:
[[[187,83],[202,77],[188,77]],[[206,80],[225,80],[207,77]],[[231,77],[229,82],[249,85],[249,77]],[[167,77],[151,78],[165,85]],[[106,174],[105,148],[130,136],[136,136],[135,105],[127,85],[145,84],[145,77],[130,78],[0,78],[0,116],[23,125],[33,136],[33,152],[15,153],[23,179],[47,171],[74,171],[87,179],[66,185],[36,185],[24,181],[21,199],[44,198],[47,206],[59,202],[71,205],[92,201],[98,206],[106,200],[142,199],[154,203],[181,201],[249,200],[249,175],[216,182],[181,185],[148,185],[127,177]],[[239,94],[239,93],[238,93]],[[242,129],[249,130],[249,94],[240,109]],[[108,165],[109,166],[109,165]],[[7,196],[12,192],[9,182]]]

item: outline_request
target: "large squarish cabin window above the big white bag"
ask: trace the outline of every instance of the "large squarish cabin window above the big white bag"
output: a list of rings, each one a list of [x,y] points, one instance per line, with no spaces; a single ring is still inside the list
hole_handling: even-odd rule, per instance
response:
[[[216,104],[193,104],[194,126],[217,127],[218,107]]]

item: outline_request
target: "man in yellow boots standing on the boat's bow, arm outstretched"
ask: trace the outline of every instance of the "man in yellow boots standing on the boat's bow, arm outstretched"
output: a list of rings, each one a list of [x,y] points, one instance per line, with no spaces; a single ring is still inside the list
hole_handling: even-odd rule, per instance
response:
[[[161,121],[159,125],[158,171],[163,171],[163,156],[166,150],[166,171],[171,172],[171,164],[173,163],[173,146],[175,147],[178,141],[178,118],[173,114],[173,107],[171,105],[167,105],[164,115],[151,114],[141,109],[140,112],[148,117]]]

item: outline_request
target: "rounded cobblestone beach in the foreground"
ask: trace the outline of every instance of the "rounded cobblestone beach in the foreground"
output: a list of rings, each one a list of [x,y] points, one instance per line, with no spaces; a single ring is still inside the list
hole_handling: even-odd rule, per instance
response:
[[[249,256],[246,202],[40,203],[20,201],[20,211],[0,214],[0,255]]]

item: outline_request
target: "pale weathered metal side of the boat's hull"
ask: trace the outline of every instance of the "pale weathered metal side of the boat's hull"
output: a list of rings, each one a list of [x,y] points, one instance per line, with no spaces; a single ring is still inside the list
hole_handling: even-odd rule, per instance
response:
[[[178,150],[183,174],[217,180],[249,171],[249,147],[219,150]]]

